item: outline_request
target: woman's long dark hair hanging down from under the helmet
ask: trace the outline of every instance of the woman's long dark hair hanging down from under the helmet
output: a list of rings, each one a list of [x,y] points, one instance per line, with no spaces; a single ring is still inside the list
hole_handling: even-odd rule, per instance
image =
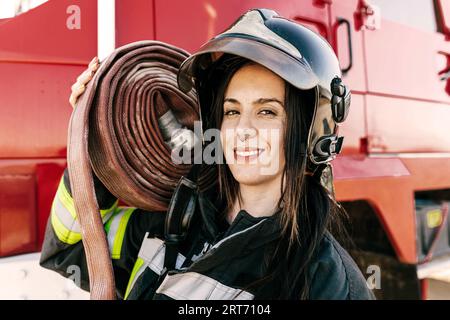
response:
[[[249,60],[224,54],[208,71],[207,92],[200,95],[200,104],[210,103],[204,114],[205,127],[220,128],[223,119],[223,100],[233,75]],[[318,175],[307,171],[307,137],[313,118],[315,91],[302,91],[286,82],[284,132],[285,168],[281,183],[281,234],[275,252],[267,257],[267,275],[251,284],[256,298],[307,299],[309,293],[308,267],[322,237],[336,216],[338,207],[327,190],[319,183]],[[239,183],[227,164],[217,165],[218,188],[225,210],[240,201]],[[283,188],[284,186],[284,188]]]

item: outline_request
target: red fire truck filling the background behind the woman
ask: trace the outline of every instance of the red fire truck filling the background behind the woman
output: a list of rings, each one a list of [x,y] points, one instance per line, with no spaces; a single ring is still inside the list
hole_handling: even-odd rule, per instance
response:
[[[255,7],[336,50],[352,89],[333,162],[352,254],[379,271],[378,298],[426,298],[426,279],[450,269],[449,0],[50,0],[0,20],[0,256],[40,250],[70,87],[92,57],[145,39],[193,52]]]

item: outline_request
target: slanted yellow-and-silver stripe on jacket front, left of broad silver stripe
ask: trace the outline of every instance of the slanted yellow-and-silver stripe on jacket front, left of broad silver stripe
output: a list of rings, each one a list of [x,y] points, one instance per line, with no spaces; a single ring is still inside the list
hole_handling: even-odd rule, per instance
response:
[[[163,272],[164,255],[166,252],[164,241],[158,238],[149,238],[148,235],[149,233],[147,232],[142,241],[141,248],[139,249],[138,259],[131,272],[130,280],[128,281],[125,299],[136,284],[136,280],[139,279],[140,275],[147,267],[158,275],[161,275]],[[185,260],[186,257],[178,253],[175,268],[180,269]]]

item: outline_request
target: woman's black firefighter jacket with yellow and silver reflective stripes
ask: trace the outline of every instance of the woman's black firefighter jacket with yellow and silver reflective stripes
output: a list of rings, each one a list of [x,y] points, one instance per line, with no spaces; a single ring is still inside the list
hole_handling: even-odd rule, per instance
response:
[[[241,210],[228,225],[217,220],[215,206],[200,194],[199,207],[188,237],[180,247],[176,269],[166,273],[163,270],[165,214],[117,207],[116,199],[98,181],[96,193],[120,298],[255,298],[251,284],[265,275],[264,261],[273,254],[279,237],[276,215],[253,217]],[[79,285],[89,290],[86,259],[74,212],[66,170],[52,206],[41,265],[72,278],[73,265],[76,265],[81,270]],[[329,233],[315,253],[308,278],[310,299],[374,298],[352,258]]]

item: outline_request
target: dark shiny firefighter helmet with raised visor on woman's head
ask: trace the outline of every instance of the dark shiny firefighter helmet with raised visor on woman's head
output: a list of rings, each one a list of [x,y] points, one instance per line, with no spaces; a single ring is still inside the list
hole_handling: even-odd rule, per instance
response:
[[[178,73],[180,89],[198,89],[204,71],[223,53],[259,63],[298,89],[314,90],[308,159],[317,167],[336,157],[343,141],[337,124],[348,114],[350,91],[341,81],[338,59],[324,38],[273,10],[250,10],[183,62]],[[202,119],[208,112],[204,109]]]

